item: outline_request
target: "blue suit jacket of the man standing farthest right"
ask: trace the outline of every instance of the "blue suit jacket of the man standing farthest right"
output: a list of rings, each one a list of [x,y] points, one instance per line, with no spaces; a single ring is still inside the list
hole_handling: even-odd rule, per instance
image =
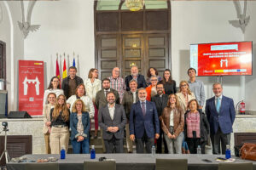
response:
[[[217,133],[218,126],[224,134],[233,132],[232,126],[236,117],[233,99],[223,95],[219,113],[216,110],[215,97],[207,99],[206,113],[211,134]]]

